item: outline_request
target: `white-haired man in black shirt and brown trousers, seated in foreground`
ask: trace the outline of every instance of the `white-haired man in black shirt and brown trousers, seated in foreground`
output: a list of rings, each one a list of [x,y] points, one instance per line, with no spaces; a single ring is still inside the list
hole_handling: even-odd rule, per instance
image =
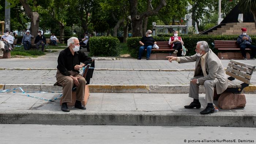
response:
[[[68,48],[62,50],[58,57],[58,66],[56,79],[57,83],[63,86],[63,99],[61,104],[61,110],[68,112],[67,103],[72,99],[72,88],[75,84],[76,89],[76,102],[75,107],[78,109],[86,109],[82,106],[84,101],[84,87],[86,80],[79,74],[79,68],[92,62],[92,59],[86,56],[79,50],[79,40],[76,37],[68,39]],[[82,64],[80,64],[82,62]]]

